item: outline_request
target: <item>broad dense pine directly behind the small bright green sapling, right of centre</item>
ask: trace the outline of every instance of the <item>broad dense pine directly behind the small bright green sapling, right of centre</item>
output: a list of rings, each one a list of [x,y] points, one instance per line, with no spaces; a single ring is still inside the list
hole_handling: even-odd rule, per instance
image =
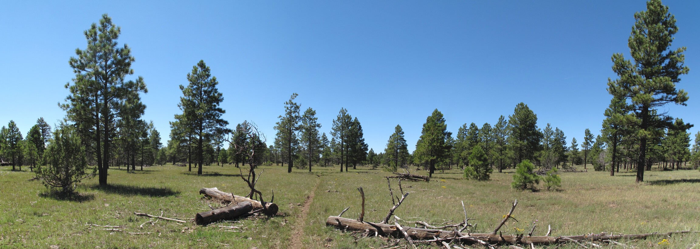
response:
[[[522,102],[515,106],[513,115],[508,116],[510,132],[508,150],[516,163],[524,159],[534,159],[542,134],[537,128],[537,115]]]

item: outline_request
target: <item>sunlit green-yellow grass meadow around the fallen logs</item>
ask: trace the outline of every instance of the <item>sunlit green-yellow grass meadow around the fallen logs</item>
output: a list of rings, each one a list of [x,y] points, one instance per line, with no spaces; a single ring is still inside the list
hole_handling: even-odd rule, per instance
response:
[[[377,248],[386,242],[373,237],[357,239],[326,227],[325,220],[347,206],[351,208],[343,216],[358,217],[357,187],[365,191],[366,221],[381,221],[392,206],[384,178],[389,173],[384,171],[358,167],[340,173],[337,166],[316,166],[312,173],[299,169],[286,173],[286,166],[260,166],[265,172],[258,187],[267,199],[274,190],[279,215],[207,227],[160,220],[139,229],[148,218],[134,216],[134,211],[154,215],[162,211],[168,218],[190,220],[203,211],[200,209],[208,209],[198,192],[201,187],[241,195],[248,190],[234,166],[205,166],[204,176],[186,167],[153,166],[136,173],[110,169],[110,187],[98,187],[96,178],[86,180],[78,186],[81,199],[69,201],[46,196],[41,183],[28,180],[34,173],[10,169],[0,168],[0,248],[227,248],[223,244],[228,248],[287,248],[296,222],[304,222],[301,241],[306,248]],[[508,222],[504,233],[512,234],[516,227],[528,232],[533,220],[538,220],[535,235],[545,234],[547,225],[552,225],[554,236],[700,230],[700,171],[647,171],[643,184],[634,183],[634,173],[561,173],[562,190],[558,192],[512,190],[512,173],[492,173],[491,180],[479,182],[462,179],[461,171],[454,169],[438,171],[428,183],[403,181],[403,190],[411,194],[395,215],[437,224],[459,222],[463,219],[460,201],[464,201],[469,217],[476,219],[472,222],[478,223],[476,230],[490,232],[518,199],[514,217],[519,222]],[[302,208],[298,204],[304,203],[316,185],[307,219],[297,220]],[[398,194],[395,180],[392,187]],[[122,225],[129,232],[153,234],[108,232],[85,223]],[[218,225],[235,225],[243,232],[224,232]],[[645,248],[658,246],[659,241],[661,238],[629,244]],[[669,241],[666,248],[689,248],[700,243],[700,236],[673,236]]]

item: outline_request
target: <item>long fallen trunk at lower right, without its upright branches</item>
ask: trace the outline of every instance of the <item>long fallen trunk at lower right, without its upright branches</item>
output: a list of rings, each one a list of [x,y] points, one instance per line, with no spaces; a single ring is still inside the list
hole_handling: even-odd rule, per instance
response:
[[[400,231],[395,225],[388,225],[382,223],[373,222],[360,222],[355,219],[342,218],[338,216],[329,216],[325,221],[326,225],[339,227],[340,229],[350,229],[355,231],[370,231],[370,234],[378,234],[381,236],[395,236],[400,237]],[[474,239],[481,241],[486,241],[491,244],[523,244],[529,245],[530,243],[536,245],[552,245],[558,243],[566,243],[570,239],[576,241],[605,241],[605,240],[619,240],[619,239],[644,239],[649,236],[671,236],[671,234],[685,234],[690,231],[676,231],[676,232],[666,232],[666,233],[650,233],[650,234],[587,234],[587,235],[575,235],[575,236],[524,236],[524,234],[474,234],[474,233],[458,233],[455,234],[454,231],[445,231],[440,229],[425,229],[418,227],[406,227],[401,226],[402,229],[411,236],[412,239],[425,240],[425,239],[457,239],[465,242],[473,243]],[[433,238],[435,237],[435,238]]]

